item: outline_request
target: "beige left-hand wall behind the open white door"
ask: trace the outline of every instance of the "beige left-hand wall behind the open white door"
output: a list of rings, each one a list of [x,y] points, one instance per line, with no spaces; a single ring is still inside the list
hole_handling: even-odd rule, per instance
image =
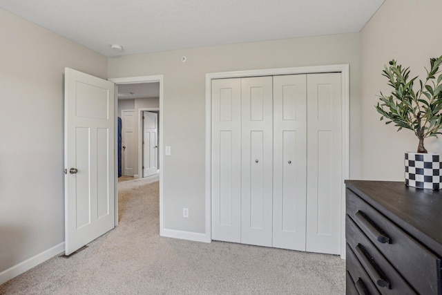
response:
[[[1,273],[64,242],[64,68],[106,78],[107,59],[1,9],[0,27]]]

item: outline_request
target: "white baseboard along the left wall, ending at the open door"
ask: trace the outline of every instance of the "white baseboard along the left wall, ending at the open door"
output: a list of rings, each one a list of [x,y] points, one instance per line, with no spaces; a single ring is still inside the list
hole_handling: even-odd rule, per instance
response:
[[[44,263],[49,258],[52,258],[61,252],[64,252],[64,242],[61,242],[59,245],[47,249],[40,254],[32,256],[31,258],[28,258],[23,262],[8,268],[3,272],[0,272],[0,285],[6,283],[11,278],[15,278],[19,274],[23,274],[23,272],[28,271],[32,267],[36,267],[40,263]]]

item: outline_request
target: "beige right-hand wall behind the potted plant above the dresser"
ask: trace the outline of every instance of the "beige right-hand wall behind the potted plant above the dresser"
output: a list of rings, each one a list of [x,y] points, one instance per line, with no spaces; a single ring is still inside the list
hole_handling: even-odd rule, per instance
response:
[[[361,31],[363,179],[403,180],[403,154],[416,151],[418,141],[412,131],[397,133],[394,126],[379,121],[376,95],[390,91],[381,72],[396,59],[410,66],[412,76],[425,74],[430,57],[442,55],[441,11],[440,0],[387,0]],[[425,147],[442,153],[440,140],[426,140]]]

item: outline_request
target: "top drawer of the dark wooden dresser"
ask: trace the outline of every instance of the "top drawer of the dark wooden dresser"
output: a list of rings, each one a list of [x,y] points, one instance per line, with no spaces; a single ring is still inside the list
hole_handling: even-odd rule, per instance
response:
[[[347,215],[419,294],[441,294],[440,259],[347,189]]]

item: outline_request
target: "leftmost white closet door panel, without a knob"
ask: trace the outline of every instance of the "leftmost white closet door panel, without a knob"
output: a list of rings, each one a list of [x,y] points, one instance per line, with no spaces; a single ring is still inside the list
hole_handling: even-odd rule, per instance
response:
[[[241,241],[241,79],[212,81],[212,239]]]

